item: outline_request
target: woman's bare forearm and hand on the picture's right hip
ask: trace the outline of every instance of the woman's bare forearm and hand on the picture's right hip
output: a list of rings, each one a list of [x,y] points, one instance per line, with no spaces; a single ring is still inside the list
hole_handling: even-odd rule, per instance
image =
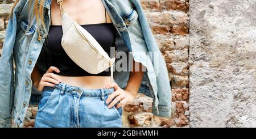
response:
[[[138,94],[139,87],[141,86],[144,71],[142,71],[143,65],[133,60],[132,71],[130,71],[129,80],[125,90],[121,89],[117,83],[107,86],[106,88],[114,87],[115,91],[106,100],[109,104],[108,108],[111,108],[115,103],[119,102],[116,108],[119,108],[127,103],[133,102]],[[113,100],[114,99],[114,100]],[[113,100],[113,101],[112,101]],[[110,103],[111,102],[111,103]]]

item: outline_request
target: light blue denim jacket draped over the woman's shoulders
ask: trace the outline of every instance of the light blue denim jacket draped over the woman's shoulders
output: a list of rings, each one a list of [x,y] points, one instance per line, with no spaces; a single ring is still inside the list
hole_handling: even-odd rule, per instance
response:
[[[34,2],[39,3],[40,0],[32,1],[32,5]],[[47,31],[38,31],[35,18],[31,21],[32,26],[28,28],[27,0],[18,2],[13,16],[9,19],[0,60],[0,127],[10,127],[11,118],[17,127],[23,127],[33,89],[31,73],[49,30],[51,2],[44,2],[44,23]],[[152,35],[140,1],[102,2],[127,49],[132,52],[134,61],[146,66],[147,71],[143,75],[139,92],[153,99],[154,115],[170,117],[171,86],[166,63]],[[27,29],[28,32],[25,33]],[[42,36],[41,40],[38,39],[39,35]],[[129,72],[114,71],[114,80],[121,88],[126,87],[128,79]]]

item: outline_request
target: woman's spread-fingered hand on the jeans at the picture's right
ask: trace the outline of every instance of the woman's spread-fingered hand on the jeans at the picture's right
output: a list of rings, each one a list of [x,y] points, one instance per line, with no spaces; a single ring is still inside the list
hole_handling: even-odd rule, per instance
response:
[[[112,83],[106,86],[106,89],[110,89],[111,87],[114,87],[115,91],[109,95],[108,99],[106,99],[106,104],[109,104],[108,108],[112,108],[117,102],[119,103],[117,106],[115,106],[115,108],[122,107],[127,103],[133,102],[133,100],[136,98],[136,95],[134,95],[133,92],[121,89],[117,83]]]

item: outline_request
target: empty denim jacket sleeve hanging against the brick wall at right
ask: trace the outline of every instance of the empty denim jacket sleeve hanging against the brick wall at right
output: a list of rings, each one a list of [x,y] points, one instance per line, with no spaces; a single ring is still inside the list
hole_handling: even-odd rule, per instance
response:
[[[166,62],[164,61],[158,44],[154,39],[154,35],[147,22],[146,15],[142,9],[141,2],[139,0],[133,0],[133,2],[139,14],[139,22],[143,22],[143,24],[141,24],[141,28],[146,44],[148,46],[151,46],[147,46],[147,49],[149,52],[154,52],[151,54],[151,60],[152,64],[154,65],[154,71],[156,74],[156,83],[158,87],[157,96],[159,103],[157,107],[152,108],[152,113],[160,117],[171,117],[171,85],[168,77]]]

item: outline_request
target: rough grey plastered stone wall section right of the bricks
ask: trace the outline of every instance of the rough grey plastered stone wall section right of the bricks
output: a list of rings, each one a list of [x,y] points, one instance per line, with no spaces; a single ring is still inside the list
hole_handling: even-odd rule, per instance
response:
[[[190,0],[191,127],[256,127],[256,1]]]

